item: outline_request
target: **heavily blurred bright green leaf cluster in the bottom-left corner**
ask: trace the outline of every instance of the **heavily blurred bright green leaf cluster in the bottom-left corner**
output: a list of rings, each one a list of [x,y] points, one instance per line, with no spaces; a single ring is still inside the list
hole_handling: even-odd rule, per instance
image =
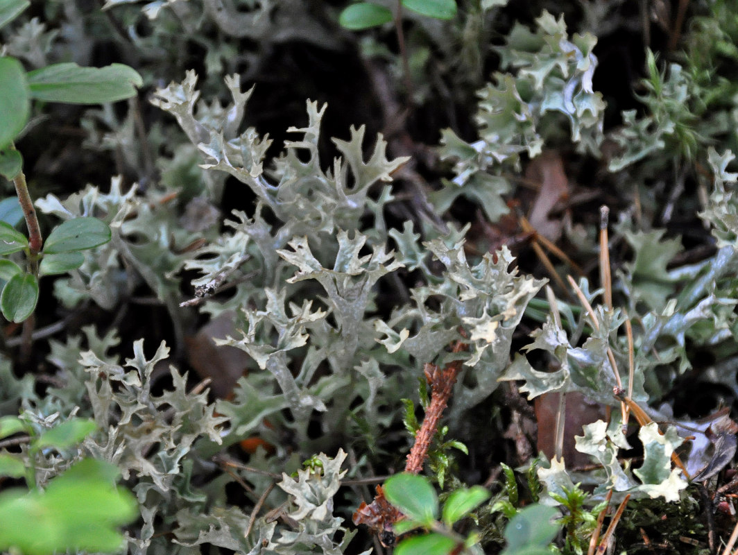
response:
[[[114,474],[109,463],[87,459],[51,480],[45,492],[3,492],[0,549],[24,555],[120,551],[123,535],[117,527],[137,517],[137,503],[115,487]]]

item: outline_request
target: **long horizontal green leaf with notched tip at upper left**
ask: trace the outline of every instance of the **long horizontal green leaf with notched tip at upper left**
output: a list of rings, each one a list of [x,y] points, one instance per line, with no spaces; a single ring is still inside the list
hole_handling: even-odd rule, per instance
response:
[[[100,104],[134,97],[141,76],[122,63],[80,67],[55,63],[28,73],[30,95],[37,100],[69,104]]]

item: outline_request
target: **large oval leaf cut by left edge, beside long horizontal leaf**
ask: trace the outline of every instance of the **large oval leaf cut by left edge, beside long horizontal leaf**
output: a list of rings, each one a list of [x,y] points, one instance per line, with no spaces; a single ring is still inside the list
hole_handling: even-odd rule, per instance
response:
[[[30,100],[23,66],[15,58],[0,58],[0,149],[6,148],[28,120]]]

